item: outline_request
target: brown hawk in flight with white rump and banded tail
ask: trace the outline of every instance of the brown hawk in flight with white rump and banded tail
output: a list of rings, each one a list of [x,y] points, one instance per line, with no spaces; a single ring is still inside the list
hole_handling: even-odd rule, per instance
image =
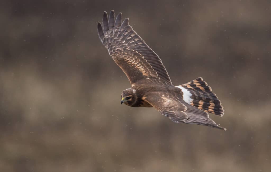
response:
[[[131,88],[121,93],[121,104],[154,107],[176,123],[198,124],[226,130],[208,112],[224,114],[220,100],[201,77],[174,86],[159,56],[129,25],[122,13],[104,12],[98,35],[109,55],[127,75]]]

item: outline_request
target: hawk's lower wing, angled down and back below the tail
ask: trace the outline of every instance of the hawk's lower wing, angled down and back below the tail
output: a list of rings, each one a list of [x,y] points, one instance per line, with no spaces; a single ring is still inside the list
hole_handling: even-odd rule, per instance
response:
[[[175,95],[151,92],[144,96],[143,100],[152,105],[162,115],[168,116],[173,122],[205,125],[226,130],[210,119],[207,112],[187,104],[183,99]]]

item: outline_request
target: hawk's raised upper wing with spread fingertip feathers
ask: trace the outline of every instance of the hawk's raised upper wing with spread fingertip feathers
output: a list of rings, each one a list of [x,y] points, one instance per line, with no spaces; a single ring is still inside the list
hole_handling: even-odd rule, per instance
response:
[[[158,55],[141,39],[129,25],[129,19],[122,22],[122,13],[115,20],[112,10],[104,12],[102,24],[98,22],[98,34],[115,63],[124,71],[131,84],[142,79],[166,82],[172,85],[166,68]]]

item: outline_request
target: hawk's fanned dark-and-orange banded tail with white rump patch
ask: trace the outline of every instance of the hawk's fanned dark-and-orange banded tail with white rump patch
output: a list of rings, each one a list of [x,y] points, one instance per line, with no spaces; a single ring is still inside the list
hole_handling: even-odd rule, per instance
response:
[[[212,92],[212,88],[208,86],[201,77],[193,81],[177,86],[183,92],[183,99],[188,104],[195,106],[202,111],[223,116],[224,109],[221,101]]]

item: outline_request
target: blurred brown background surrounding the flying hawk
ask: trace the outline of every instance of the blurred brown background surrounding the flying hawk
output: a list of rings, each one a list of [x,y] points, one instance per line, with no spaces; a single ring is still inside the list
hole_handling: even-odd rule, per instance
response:
[[[0,171],[270,171],[271,1],[1,1]],[[227,131],[120,105],[97,34],[130,18],[173,84],[203,77]]]

